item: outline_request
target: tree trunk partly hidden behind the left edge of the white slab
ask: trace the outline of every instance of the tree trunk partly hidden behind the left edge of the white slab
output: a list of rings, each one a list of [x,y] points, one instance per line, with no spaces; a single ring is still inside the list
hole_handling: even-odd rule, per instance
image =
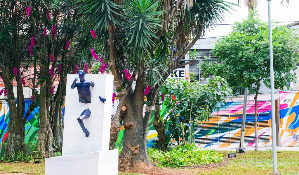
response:
[[[57,100],[54,111],[54,123],[53,123],[53,137],[56,145],[56,151],[62,153],[62,138],[63,138],[63,114],[62,107],[65,102],[65,96],[61,97],[61,100]]]

